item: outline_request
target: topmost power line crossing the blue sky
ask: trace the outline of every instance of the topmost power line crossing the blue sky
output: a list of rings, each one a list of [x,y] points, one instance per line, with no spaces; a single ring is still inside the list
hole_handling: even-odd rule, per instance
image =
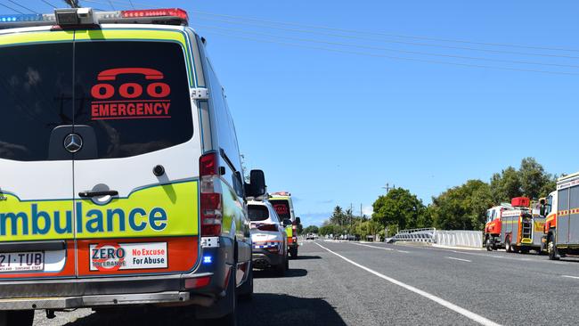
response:
[[[279,20],[277,20],[277,21],[276,20],[259,20],[256,18],[225,15],[225,14],[213,13],[213,12],[200,12],[200,11],[192,11],[192,12],[200,13],[200,14],[204,14],[204,15],[208,15],[208,16],[225,17],[225,18],[231,18],[231,19],[236,19],[236,20],[252,20],[252,21],[265,22],[265,23],[269,23],[269,24],[296,26],[296,27],[302,27],[302,28],[307,28],[307,29],[326,29],[326,30],[334,30],[334,31],[341,31],[341,32],[355,33],[355,34],[371,34],[371,35],[379,35],[379,36],[385,36],[385,37],[415,38],[415,39],[424,39],[424,40],[429,40],[429,41],[453,42],[453,43],[463,43],[463,44],[470,44],[470,45],[490,45],[490,46],[518,47],[518,48],[534,49],[534,50],[579,52],[579,50],[577,50],[577,49],[566,49],[566,48],[549,47],[549,46],[542,46],[542,45],[512,45],[512,44],[505,44],[505,43],[467,41],[467,40],[463,40],[463,39],[422,37],[422,36],[392,34],[392,33],[386,33],[386,32],[374,32],[374,31],[370,31],[370,30],[338,29],[338,28],[331,28],[331,27],[320,26],[320,25],[305,25],[305,24],[297,24],[294,22],[286,22],[286,21],[279,21]]]

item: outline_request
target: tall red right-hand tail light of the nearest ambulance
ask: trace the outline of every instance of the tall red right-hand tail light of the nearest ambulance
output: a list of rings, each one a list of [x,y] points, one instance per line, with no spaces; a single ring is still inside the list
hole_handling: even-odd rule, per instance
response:
[[[218,183],[219,159],[215,152],[205,154],[199,159],[201,192],[201,236],[221,235],[222,192]]]

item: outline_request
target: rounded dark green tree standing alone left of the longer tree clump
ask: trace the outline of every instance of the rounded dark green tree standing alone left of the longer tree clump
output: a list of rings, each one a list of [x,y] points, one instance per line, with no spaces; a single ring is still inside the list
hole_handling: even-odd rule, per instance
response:
[[[385,196],[379,196],[372,207],[372,220],[384,226],[397,224],[400,229],[416,227],[424,212],[422,200],[403,188],[396,188]]]

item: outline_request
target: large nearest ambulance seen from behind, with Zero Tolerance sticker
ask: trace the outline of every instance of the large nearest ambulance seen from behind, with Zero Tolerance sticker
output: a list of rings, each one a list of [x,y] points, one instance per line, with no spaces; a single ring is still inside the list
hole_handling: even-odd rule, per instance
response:
[[[180,9],[0,16],[0,325],[249,297],[235,128]]]

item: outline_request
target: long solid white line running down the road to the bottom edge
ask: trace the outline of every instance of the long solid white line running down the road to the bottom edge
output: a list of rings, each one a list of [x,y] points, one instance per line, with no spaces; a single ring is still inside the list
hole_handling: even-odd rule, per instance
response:
[[[426,291],[423,291],[423,290],[421,290],[421,289],[416,289],[416,288],[414,288],[412,285],[408,285],[408,284],[406,284],[406,283],[403,283],[402,281],[396,281],[395,279],[393,279],[393,278],[391,278],[391,277],[388,277],[388,276],[386,276],[386,275],[384,275],[384,274],[382,274],[382,273],[378,273],[378,272],[376,272],[376,271],[374,271],[374,270],[372,270],[372,269],[370,269],[370,268],[368,268],[368,267],[366,267],[366,266],[360,265],[360,264],[356,263],[355,261],[348,259],[347,257],[344,257],[344,256],[342,256],[342,255],[340,255],[340,254],[338,254],[338,253],[336,253],[336,252],[334,252],[334,251],[331,251],[330,249],[327,249],[327,248],[323,247],[323,246],[322,246],[321,244],[319,244],[319,243],[316,243],[316,245],[320,246],[322,249],[327,250],[327,251],[330,252],[331,254],[334,254],[334,255],[336,255],[336,256],[338,256],[338,257],[346,260],[348,263],[350,263],[350,264],[352,264],[352,265],[355,265],[356,267],[362,268],[364,271],[366,271],[366,272],[368,272],[368,273],[372,273],[372,274],[378,276],[378,277],[381,278],[381,279],[384,279],[384,280],[389,281],[389,282],[391,282],[391,283],[393,283],[393,284],[396,284],[397,286],[402,287],[402,288],[404,288],[404,289],[408,289],[409,291],[412,291],[412,292],[414,292],[414,293],[416,293],[416,294],[418,294],[418,295],[420,295],[420,296],[422,296],[422,297],[426,297],[426,298],[428,298],[429,300],[432,300],[432,301],[436,302],[438,305],[444,306],[444,307],[446,307],[446,308],[448,308],[448,309],[450,309],[450,310],[453,310],[453,312],[456,312],[456,313],[458,313],[458,314],[462,314],[463,316],[469,318],[470,320],[472,320],[472,321],[474,321],[474,322],[478,322],[478,323],[480,323],[481,325],[485,325],[485,326],[500,326],[500,324],[498,324],[498,323],[496,323],[496,322],[493,322],[493,321],[491,321],[491,320],[489,320],[489,319],[486,319],[485,317],[483,317],[483,316],[481,316],[481,315],[479,315],[479,314],[475,314],[475,313],[473,313],[473,312],[471,312],[471,311],[469,311],[469,310],[467,310],[467,309],[465,309],[465,308],[462,308],[462,307],[460,307],[460,306],[456,306],[456,305],[454,305],[453,303],[450,303],[450,302],[444,300],[444,298],[442,298],[442,297],[436,297],[435,295],[432,295],[432,294],[430,294],[430,293],[428,293],[428,292],[426,292]]]

